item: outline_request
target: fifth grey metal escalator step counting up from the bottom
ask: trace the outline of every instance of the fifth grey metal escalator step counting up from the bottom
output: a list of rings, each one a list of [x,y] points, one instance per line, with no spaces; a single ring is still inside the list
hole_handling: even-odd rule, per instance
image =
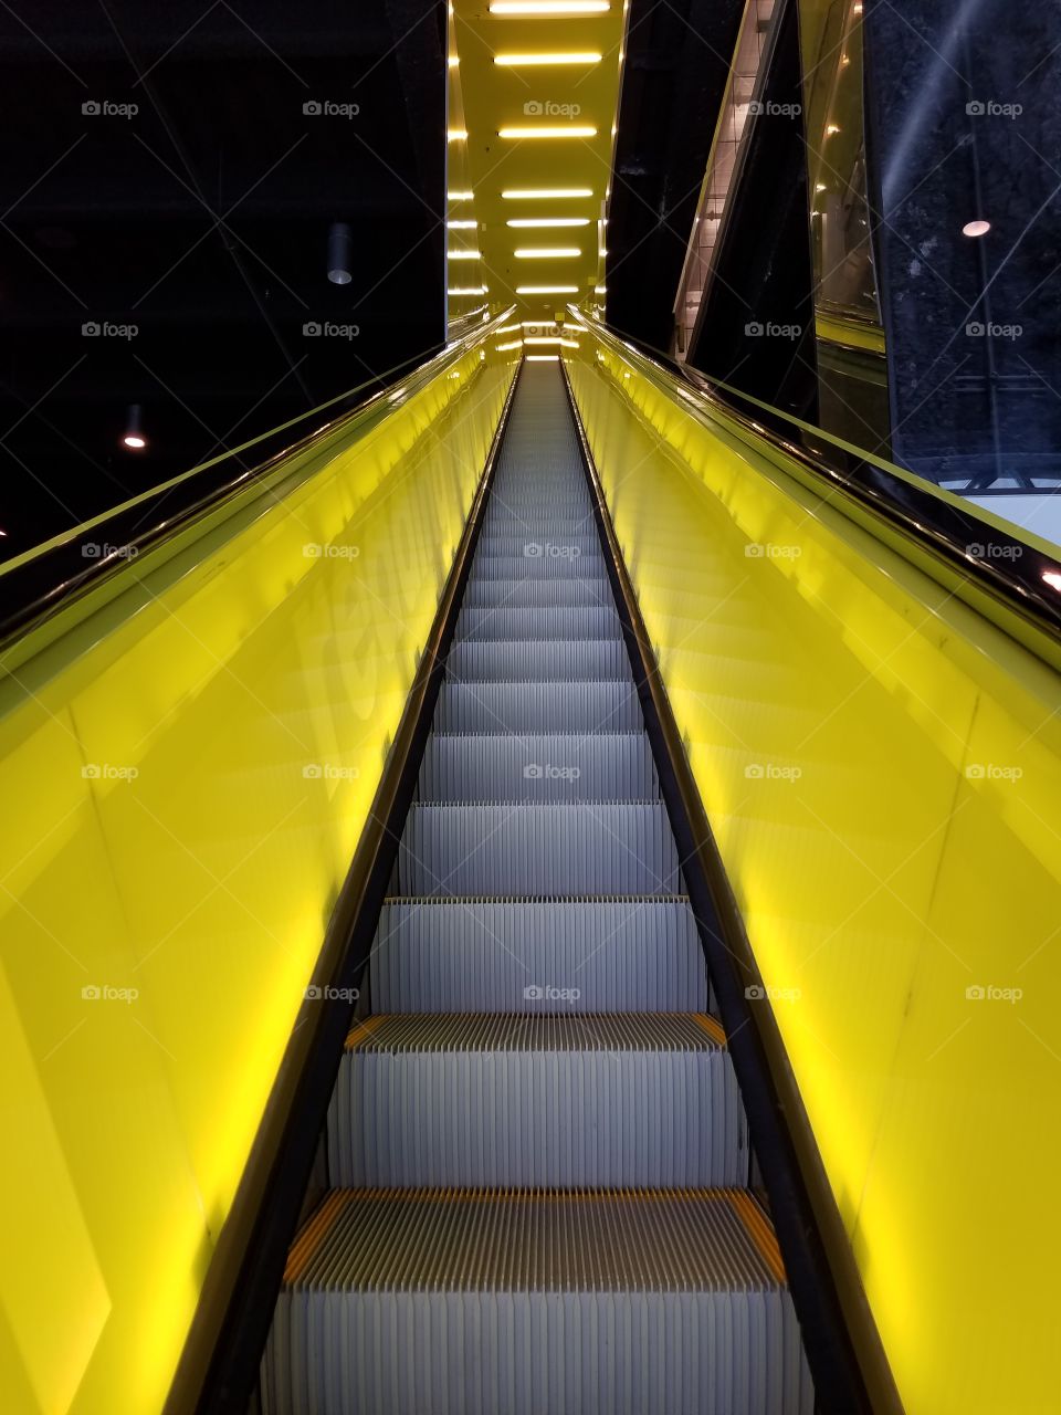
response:
[[[651,801],[658,795],[644,732],[598,737],[434,733],[417,782],[423,802]]]

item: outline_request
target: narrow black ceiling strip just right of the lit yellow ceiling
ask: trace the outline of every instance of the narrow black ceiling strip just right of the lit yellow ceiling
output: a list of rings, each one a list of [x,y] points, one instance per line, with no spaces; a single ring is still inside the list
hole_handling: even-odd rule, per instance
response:
[[[631,0],[608,207],[607,317],[666,350],[740,0]]]

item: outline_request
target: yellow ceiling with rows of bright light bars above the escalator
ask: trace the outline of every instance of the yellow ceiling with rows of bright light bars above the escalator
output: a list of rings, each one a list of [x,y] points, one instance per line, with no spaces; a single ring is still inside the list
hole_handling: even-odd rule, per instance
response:
[[[540,323],[572,300],[593,303],[625,17],[624,0],[450,7],[448,123],[467,137],[448,142],[448,188],[472,195],[451,200],[448,219],[475,226],[451,228],[448,249],[481,259],[450,260],[448,287],[484,291],[451,296],[451,317],[516,304],[515,318]]]

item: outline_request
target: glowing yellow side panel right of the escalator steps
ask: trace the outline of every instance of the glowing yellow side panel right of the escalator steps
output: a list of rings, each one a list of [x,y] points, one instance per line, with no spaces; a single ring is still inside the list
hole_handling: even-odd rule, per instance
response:
[[[566,361],[905,1408],[1057,1411],[1058,674],[614,340]]]

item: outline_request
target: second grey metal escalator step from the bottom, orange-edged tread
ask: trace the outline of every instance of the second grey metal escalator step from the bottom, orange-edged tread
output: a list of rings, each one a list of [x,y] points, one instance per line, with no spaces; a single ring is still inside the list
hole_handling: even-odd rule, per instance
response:
[[[355,1026],[328,1177],[386,1184],[699,1189],[748,1177],[721,1027],[693,1013],[398,1013]]]

